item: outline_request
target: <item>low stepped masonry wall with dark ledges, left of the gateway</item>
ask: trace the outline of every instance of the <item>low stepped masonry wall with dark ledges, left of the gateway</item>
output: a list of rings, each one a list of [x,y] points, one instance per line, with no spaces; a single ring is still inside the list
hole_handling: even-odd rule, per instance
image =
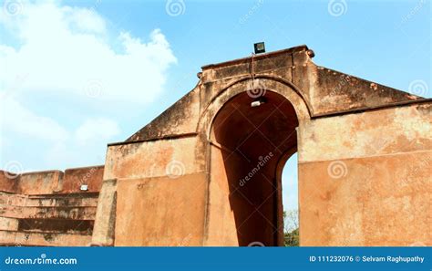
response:
[[[0,172],[0,245],[90,245],[103,171]]]

